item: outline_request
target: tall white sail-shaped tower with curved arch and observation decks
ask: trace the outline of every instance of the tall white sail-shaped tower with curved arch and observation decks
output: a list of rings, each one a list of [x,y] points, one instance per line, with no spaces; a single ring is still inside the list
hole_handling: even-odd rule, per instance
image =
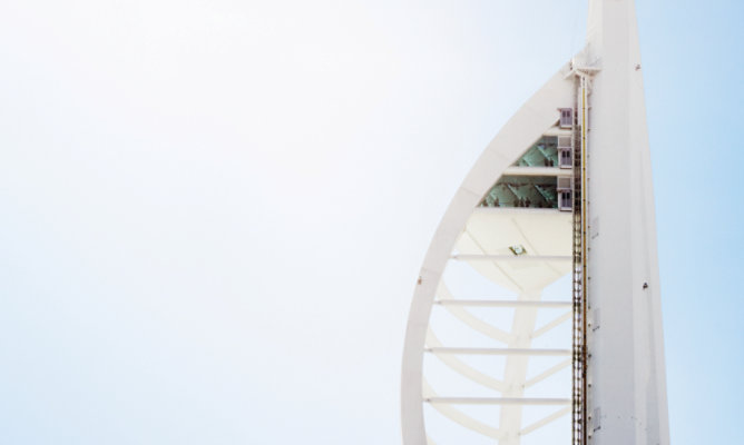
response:
[[[472,443],[552,428],[551,444],[667,445],[663,347],[635,4],[590,0],[586,48],[489,144],[434,235],[403,443],[439,443],[449,422]]]

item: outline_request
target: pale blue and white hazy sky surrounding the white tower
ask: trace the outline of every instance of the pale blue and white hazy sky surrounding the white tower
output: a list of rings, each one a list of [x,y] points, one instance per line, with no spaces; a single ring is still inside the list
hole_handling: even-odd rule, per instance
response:
[[[677,445],[744,443],[742,17],[638,1]],[[400,443],[430,238],[585,20],[0,2],[0,443]]]

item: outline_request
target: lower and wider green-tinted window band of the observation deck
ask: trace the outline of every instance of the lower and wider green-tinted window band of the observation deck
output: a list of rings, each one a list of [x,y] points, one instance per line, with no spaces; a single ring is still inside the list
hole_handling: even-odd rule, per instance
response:
[[[555,176],[502,176],[480,207],[558,208]]]

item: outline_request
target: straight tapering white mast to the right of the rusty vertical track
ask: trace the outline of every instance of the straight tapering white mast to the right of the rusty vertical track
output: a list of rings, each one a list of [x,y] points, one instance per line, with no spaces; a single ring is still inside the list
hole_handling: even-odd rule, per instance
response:
[[[588,333],[588,412],[600,413],[590,443],[665,445],[656,221],[634,1],[594,0],[589,20],[589,53],[601,67],[590,95],[589,220],[601,231],[595,227],[589,240],[588,295],[603,315]]]

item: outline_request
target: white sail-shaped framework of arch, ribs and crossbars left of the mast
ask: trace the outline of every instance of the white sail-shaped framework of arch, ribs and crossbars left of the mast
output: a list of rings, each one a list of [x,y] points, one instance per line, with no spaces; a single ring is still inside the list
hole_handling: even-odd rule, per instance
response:
[[[533,425],[521,425],[521,404],[546,403],[546,399],[521,397],[527,378],[527,360],[530,355],[527,349],[530,347],[531,335],[535,335],[536,328],[539,329],[536,326],[536,314],[541,307],[538,303],[540,290],[570,270],[570,214],[548,208],[506,209],[479,208],[478,206],[497,179],[503,174],[516,172],[512,165],[538,139],[550,131],[556,135],[566,135],[566,130],[556,128],[556,125],[560,119],[560,109],[574,107],[575,81],[569,70],[569,66],[559,70],[519,109],[489,144],[459,188],[434,235],[418,280],[405,336],[402,376],[402,427],[405,445],[428,443],[423,414],[425,403],[432,404],[435,409],[460,425],[488,437],[497,438],[500,443],[516,443],[515,441],[518,439],[519,434],[527,434],[541,426],[539,422]],[[536,175],[536,170],[538,170],[538,175],[548,174],[556,178],[564,175],[564,171],[556,168],[557,166],[551,167],[554,168],[525,168],[529,171],[525,171],[523,175]],[[549,220],[549,222],[541,222],[541,219]],[[491,239],[489,241],[488,236],[481,235],[483,234],[483,227],[489,225],[492,227],[495,224],[500,225],[501,231],[507,234],[505,235],[506,238],[520,239],[522,240],[520,245],[523,246],[532,243],[535,246],[541,246],[544,249],[552,249],[554,251],[539,251],[539,255],[536,255],[538,254],[535,250],[537,247],[531,245],[527,248],[527,255],[523,256],[515,255],[508,250],[496,251],[498,250],[496,245],[501,243],[499,247],[503,247],[502,244],[506,238],[505,240]],[[531,227],[536,224],[537,227]],[[565,231],[562,243],[541,239],[540,234],[545,231],[541,230],[541,224],[562,224],[565,226],[565,230],[561,229]],[[493,246],[482,245],[488,243],[493,244]],[[555,246],[556,244],[559,246]],[[527,267],[510,265],[509,263],[512,259],[523,263],[523,266]],[[517,293],[519,295],[518,301],[467,301],[452,298],[441,283],[441,277],[448,261],[458,260],[467,261],[484,277]],[[456,353],[467,354],[468,350],[462,348],[447,350],[434,337],[434,334],[430,330],[430,315],[438,295],[439,300],[437,303],[446,307],[462,323],[488,335],[495,342],[503,344],[501,349],[495,349],[498,354],[508,355],[506,372],[501,376],[502,379],[486,375],[464,364]],[[566,299],[569,298],[567,296]],[[548,303],[544,306],[549,307],[550,305]],[[567,307],[565,303],[554,304],[556,307],[561,307],[561,305]],[[468,310],[467,306],[510,307],[510,310],[515,312],[512,332],[507,333],[478,319]],[[570,313],[570,307],[568,306],[564,310]],[[570,314],[568,318],[570,318]],[[568,318],[562,317],[558,323],[566,322]],[[550,329],[550,326],[547,326],[547,328]],[[462,347],[463,345],[454,346]],[[467,402],[466,398],[458,398],[457,395],[450,398],[433,396],[433,389],[429,388],[423,377],[423,358],[427,349],[429,353],[439,356],[448,366],[461,375],[484,387],[500,392],[502,397],[490,397],[481,400],[486,404],[502,406],[500,422],[493,419],[495,425],[486,425],[458,411],[454,406]],[[488,352],[480,350],[480,353]],[[565,353],[565,350],[561,350],[560,354],[555,354],[561,355]],[[551,353],[541,352],[541,354]],[[547,378],[550,372],[556,373],[565,367],[567,365],[561,364],[556,369],[548,369],[546,370],[548,374],[542,378]],[[424,388],[428,394],[424,394]],[[469,399],[469,403],[478,403],[478,400]],[[550,403],[550,400],[547,403]],[[558,405],[560,404],[565,405],[565,400],[560,399]],[[570,408],[560,407],[558,413],[549,416],[550,418],[545,419],[544,423],[547,424],[549,421],[558,418],[558,416],[566,415],[569,411]]]

